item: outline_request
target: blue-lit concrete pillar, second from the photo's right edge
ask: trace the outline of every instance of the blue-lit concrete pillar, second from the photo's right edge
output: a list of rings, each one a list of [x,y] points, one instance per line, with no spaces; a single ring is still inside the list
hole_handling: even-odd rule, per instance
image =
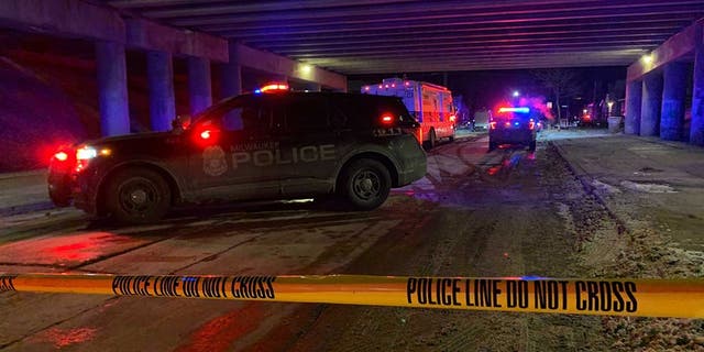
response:
[[[664,66],[662,113],[660,118],[660,138],[663,140],[680,141],[682,139],[686,75],[686,64],[670,63]]]

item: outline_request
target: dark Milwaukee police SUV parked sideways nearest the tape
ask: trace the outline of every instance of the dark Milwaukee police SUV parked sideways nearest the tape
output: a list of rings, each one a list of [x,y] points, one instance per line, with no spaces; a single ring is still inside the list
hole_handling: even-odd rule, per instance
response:
[[[183,125],[182,125],[183,123]],[[336,195],[374,209],[424,177],[418,123],[398,98],[292,92],[273,85],[222,100],[170,132],[89,141],[56,153],[48,193],[120,222],[212,200]]]

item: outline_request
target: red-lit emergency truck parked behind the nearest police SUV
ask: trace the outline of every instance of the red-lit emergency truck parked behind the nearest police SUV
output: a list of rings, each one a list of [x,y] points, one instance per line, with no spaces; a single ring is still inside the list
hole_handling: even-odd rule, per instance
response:
[[[425,81],[386,78],[378,85],[363,86],[362,94],[402,98],[408,111],[420,122],[416,138],[426,147],[433,147],[441,139],[454,140],[455,113],[452,92],[448,88]]]

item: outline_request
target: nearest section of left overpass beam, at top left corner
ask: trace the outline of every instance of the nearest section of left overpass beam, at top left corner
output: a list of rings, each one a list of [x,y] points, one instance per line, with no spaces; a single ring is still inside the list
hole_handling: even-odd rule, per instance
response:
[[[124,22],[117,11],[76,0],[2,0],[0,26],[124,43]]]

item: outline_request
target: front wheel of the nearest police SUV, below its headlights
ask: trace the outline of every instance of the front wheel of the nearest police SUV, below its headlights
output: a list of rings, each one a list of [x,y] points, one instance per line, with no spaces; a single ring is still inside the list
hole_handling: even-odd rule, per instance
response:
[[[106,206],[119,222],[146,223],[166,215],[170,189],[160,174],[146,168],[127,168],[110,178]]]

